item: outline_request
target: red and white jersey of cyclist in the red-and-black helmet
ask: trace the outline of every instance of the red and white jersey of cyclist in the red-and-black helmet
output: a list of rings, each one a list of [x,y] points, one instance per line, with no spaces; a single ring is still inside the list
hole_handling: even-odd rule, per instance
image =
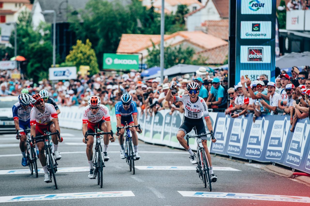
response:
[[[52,104],[45,103],[43,113],[41,113],[36,107],[31,109],[30,125],[47,125],[53,118],[58,118],[55,107]]]

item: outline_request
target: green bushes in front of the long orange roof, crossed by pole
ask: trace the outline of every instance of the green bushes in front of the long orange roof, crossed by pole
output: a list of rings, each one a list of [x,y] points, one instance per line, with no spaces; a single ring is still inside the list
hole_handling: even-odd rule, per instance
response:
[[[148,49],[148,67],[158,66],[160,64],[160,48],[153,42],[153,48]],[[164,48],[164,67],[169,68],[177,64],[194,64],[194,65],[204,65],[206,58],[199,56],[193,59],[195,51],[193,48],[178,45],[176,47],[167,46]]]

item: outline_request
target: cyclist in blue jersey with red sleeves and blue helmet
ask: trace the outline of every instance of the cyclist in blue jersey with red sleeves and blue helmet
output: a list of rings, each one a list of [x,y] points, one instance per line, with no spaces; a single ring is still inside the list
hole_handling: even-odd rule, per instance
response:
[[[121,101],[115,104],[115,114],[116,114],[116,121],[117,127],[125,126],[125,122],[127,122],[128,126],[138,125],[138,118],[137,118],[137,104],[135,101],[132,101],[132,97],[130,94],[123,94],[121,97]],[[138,152],[138,135],[136,133],[141,133],[142,130],[139,130],[138,127],[134,130],[134,128],[130,128],[132,134],[132,142],[134,144],[135,150],[135,159],[140,159],[140,154]],[[125,130],[121,129],[120,133],[116,135],[118,136],[119,144],[121,145],[121,158],[125,158],[125,148],[124,148],[124,133]]]

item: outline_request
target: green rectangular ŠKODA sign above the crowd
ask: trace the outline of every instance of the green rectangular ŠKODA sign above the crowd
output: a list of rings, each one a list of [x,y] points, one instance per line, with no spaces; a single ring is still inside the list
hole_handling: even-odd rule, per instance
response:
[[[132,54],[103,54],[104,69],[139,69],[139,55]]]

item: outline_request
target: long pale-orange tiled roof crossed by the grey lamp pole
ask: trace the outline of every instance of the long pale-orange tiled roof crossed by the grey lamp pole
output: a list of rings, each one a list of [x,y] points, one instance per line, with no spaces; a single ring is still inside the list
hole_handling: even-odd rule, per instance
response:
[[[206,34],[202,31],[182,31],[175,32],[171,35],[165,35],[165,41],[175,36],[183,36],[185,41],[189,41],[203,49],[212,49],[228,43],[218,37]],[[160,43],[160,35],[146,35],[146,34],[122,34],[121,41],[119,42],[117,52],[138,52],[142,49],[148,48],[152,42],[157,45]]]

